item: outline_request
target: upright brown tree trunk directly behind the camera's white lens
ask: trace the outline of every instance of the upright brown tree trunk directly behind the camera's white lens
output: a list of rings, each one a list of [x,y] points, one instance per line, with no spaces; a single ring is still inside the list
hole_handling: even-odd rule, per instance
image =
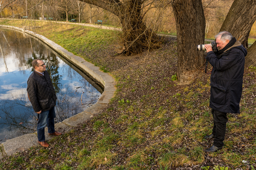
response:
[[[201,0],[172,0],[177,29],[178,64],[180,82],[190,81],[204,64],[203,51],[196,46],[204,44],[205,18]]]

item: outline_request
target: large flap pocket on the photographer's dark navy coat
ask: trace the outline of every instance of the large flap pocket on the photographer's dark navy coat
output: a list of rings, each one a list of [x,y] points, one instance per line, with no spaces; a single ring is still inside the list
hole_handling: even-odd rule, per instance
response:
[[[211,82],[210,86],[211,86],[210,100],[220,105],[225,104],[227,88],[215,82]]]

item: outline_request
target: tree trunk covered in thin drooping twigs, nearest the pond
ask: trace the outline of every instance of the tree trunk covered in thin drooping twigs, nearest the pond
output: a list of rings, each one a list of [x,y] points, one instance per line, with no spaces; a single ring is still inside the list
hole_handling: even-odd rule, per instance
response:
[[[119,17],[122,23],[124,53],[138,54],[143,48],[159,47],[155,32],[144,25],[141,17],[143,0],[81,0],[101,7]]]

